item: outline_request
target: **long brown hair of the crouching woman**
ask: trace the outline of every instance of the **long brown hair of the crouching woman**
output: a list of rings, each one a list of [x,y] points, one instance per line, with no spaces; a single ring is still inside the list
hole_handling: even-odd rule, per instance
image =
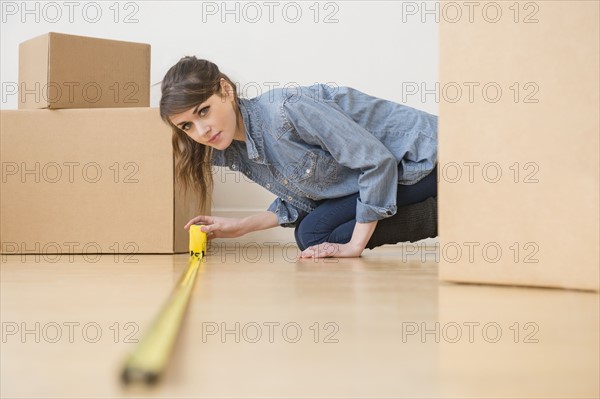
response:
[[[192,140],[169,117],[205,102],[213,94],[221,95],[221,78],[233,89],[233,104],[239,126],[241,116],[236,87],[216,64],[194,56],[183,57],[167,71],[161,84],[160,117],[173,130],[171,142],[175,155],[176,179],[182,183],[185,192],[189,188],[193,189],[202,206],[209,205],[207,201],[213,188],[212,148]]]

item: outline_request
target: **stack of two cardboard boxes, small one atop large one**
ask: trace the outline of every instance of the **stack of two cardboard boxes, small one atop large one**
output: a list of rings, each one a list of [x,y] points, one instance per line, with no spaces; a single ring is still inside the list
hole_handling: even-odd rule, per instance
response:
[[[49,33],[20,45],[0,127],[3,254],[183,253],[208,213],[174,178],[150,46]]]

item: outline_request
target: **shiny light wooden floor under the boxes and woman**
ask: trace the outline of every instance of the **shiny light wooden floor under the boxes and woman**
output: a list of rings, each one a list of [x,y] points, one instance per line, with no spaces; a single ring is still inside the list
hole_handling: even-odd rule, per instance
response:
[[[5,256],[1,397],[600,396],[597,294],[440,283],[400,246],[217,248],[149,391],[120,367],[187,255]]]

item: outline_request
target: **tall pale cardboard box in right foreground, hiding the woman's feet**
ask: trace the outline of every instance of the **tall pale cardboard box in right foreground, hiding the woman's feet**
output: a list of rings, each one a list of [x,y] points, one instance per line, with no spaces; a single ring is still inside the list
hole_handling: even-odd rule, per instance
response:
[[[597,291],[599,3],[492,3],[440,25],[440,279]]]

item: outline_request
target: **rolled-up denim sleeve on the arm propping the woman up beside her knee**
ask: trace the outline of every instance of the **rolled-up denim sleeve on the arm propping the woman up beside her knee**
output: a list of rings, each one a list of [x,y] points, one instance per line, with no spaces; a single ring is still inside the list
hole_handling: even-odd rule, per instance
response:
[[[356,221],[368,223],[396,213],[398,161],[385,145],[333,101],[293,95],[283,103],[285,117],[302,140],[360,170]]]

